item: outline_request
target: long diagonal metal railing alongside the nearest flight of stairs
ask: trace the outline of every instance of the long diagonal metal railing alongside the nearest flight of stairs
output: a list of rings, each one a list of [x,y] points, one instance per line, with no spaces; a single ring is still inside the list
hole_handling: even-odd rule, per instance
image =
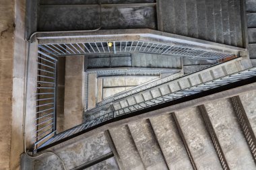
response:
[[[80,125],[75,126],[69,130],[66,130],[64,132],[56,134],[55,136],[53,136],[53,138],[50,138],[49,140],[44,142],[44,144],[42,144],[38,148],[38,150],[40,151],[43,148],[46,148],[47,146],[58,144],[59,142],[61,142],[63,140],[67,140],[69,138],[72,138],[73,136],[77,136],[78,134],[82,134],[83,132],[86,132],[86,130],[88,130],[89,128],[90,128],[90,130],[92,130],[93,128],[103,125],[104,122],[106,122],[108,120],[115,120],[115,118],[119,118],[121,116],[125,116],[127,114],[132,114],[135,112],[141,113],[142,110],[146,110],[147,108],[151,108],[151,107],[154,107],[154,106],[166,103],[166,102],[169,103],[170,101],[181,99],[183,97],[188,97],[190,95],[195,95],[197,93],[202,93],[204,91],[209,91],[211,89],[216,89],[216,88],[222,87],[224,85],[230,85],[230,83],[236,83],[238,81],[249,79],[249,78],[252,78],[255,76],[256,76],[256,67],[253,67],[251,69],[247,69],[245,71],[240,71],[240,72],[234,73],[232,75],[214,79],[213,81],[207,81],[205,83],[201,83],[199,85],[188,87],[186,89],[181,89],[181,90],[175,91],[173,93],[168,93],[168,94],[162,95],[160,97],[155,97],[154,99],[149,99],[149,100],[143,101],[141,103],[129,105],[126,108],[122,108],[119,110],[115,110],[113,112],[109,112],[107,114],[99,116],[98,118],[88,120],[88,121],[84,122],[83,124],[80,124]]]

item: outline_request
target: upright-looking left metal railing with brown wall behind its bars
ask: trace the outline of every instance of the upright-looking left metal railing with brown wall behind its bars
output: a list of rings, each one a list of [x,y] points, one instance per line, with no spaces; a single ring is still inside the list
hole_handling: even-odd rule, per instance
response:
[[[57,58],[38,50],[35,148],[56,132]]]

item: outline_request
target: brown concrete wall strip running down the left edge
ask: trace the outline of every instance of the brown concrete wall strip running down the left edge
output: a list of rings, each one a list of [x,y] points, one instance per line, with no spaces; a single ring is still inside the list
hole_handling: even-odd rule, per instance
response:
[[[0,169],[10,169],[13,74],[13,1],[0,1]]]

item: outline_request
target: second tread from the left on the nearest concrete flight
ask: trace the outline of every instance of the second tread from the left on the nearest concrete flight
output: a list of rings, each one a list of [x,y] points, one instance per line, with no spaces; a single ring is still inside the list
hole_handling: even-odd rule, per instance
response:
[[[128,125],[146,169],[168,169],[149,120]]]

